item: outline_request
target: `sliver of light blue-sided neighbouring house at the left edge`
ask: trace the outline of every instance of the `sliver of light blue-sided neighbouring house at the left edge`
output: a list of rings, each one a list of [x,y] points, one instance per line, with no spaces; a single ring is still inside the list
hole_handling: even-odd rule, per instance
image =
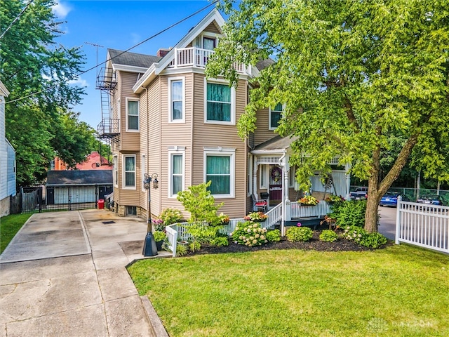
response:
[[[15,196],[15,150],[6,139],[5,98],[9,91],[0,81],[0,217],[10,212],[10,197]]]

